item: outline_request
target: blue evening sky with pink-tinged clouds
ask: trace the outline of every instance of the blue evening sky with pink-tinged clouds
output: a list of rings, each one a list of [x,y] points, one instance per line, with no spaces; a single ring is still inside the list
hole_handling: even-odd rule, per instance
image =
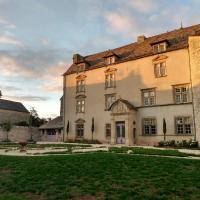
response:
[[[198,24],[199,8],[199,0],[0,0],[3,98],[53,118],[74,53],[85,56],[181,23]]]

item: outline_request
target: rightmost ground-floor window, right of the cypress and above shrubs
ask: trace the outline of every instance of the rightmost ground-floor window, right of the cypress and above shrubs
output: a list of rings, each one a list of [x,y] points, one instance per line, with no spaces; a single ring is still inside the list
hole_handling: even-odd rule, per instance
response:
[[[192,133],[192,119],[191,117],[176,117],[176,134],[191,134]]]

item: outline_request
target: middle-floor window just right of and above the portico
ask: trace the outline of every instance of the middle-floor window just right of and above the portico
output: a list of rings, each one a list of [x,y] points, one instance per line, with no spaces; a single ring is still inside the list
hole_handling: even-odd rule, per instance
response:
[[[155,101],[156,101],[155,89],[142,90],[142,98],[143,98],[143,105],[144,106],[155,105]]]

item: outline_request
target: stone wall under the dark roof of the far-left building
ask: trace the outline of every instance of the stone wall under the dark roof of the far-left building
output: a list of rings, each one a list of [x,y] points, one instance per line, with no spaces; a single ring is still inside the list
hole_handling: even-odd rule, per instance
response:
[[[10,121],[11,123],[26,121],[28,123],[29,117],[29,113],[0,109],[0,123],[4,123],[6,121]]]

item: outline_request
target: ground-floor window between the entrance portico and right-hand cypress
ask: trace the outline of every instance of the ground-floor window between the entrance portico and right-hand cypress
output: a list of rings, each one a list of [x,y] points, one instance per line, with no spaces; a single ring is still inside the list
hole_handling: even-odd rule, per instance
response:
[[[144,118],[143,119],[143,134],[144,135],[155,135],[157,132],[156,119],[155,118]]]

